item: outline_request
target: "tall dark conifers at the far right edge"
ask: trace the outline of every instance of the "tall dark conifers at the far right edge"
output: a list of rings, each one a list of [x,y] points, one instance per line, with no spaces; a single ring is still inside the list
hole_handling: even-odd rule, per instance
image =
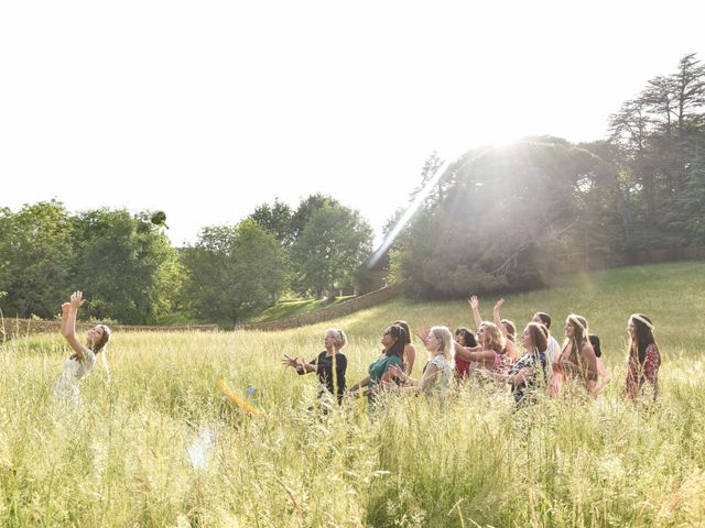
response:
[[[649,80],[610,118],[610,144],[629,185],[632,248],[668,249],[672,258],[699,243],[705,66],[688,54],[672,75]]]

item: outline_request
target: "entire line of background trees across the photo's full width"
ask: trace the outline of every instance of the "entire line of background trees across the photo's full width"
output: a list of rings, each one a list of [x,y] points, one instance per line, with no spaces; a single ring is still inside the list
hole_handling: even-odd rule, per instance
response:
[[[527,138],[471,148],[449,165],[433,154],[410,202],[423,193],[383,260],[388,279],[416,298],[543,287],[566,263],[647,262],[644,249],[681,258],[705,246],[705,66],[688,54],[650,79],[609,117],[603,140]],[[6,208],[0,308],[51,318],[56,299],[80,286],[97,319],[182,314],[232,323],[282,295],[322,296],[364,280],[371,244],[368,222],[323,195],[296,209],[263,204],[182,249],[149,211]]]

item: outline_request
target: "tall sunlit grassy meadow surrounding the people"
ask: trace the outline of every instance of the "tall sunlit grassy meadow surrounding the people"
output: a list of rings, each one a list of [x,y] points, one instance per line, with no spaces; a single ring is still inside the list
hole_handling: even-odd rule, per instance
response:
[[[282,332],[117,333],[112,376],[98,362],[78,409],[52,389],[68,349],[59,336],[0,346],[0,526],[3,527],[525,527],[704,526],[705,264],[560,277],[506,296],[519,330],[536,310],[584,315],[612,374],[579,393],[517,410],[496,387],[459,387],[438,409],[390,394],[323,414],[313,359],[324,331],[349,338],[348,383],[364,377],[394,319],[412,328],[471,321],[466,301],[399,299]],[[495,298],[480,298],[491,316]],[[662,354],[657,404],[623,398],[627,319],[652,317]],[[414,374],[421,376],[421,343]],[[225,380],[259,409],[246,416]],[[208,428],[207,465],[187,449]]]

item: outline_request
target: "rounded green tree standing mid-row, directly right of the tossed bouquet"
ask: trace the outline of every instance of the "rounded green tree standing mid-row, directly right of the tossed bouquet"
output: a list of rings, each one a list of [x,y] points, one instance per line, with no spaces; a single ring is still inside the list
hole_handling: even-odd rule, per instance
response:
[[[273,304],[284,287],[283,251],[252,219],[236,227],[204,228],[183,254],[194,308],[204,318],[237,322]]]

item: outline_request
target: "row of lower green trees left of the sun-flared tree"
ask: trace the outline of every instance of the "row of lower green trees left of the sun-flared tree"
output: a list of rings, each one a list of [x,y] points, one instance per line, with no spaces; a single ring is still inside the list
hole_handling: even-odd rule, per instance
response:
[[[352,284],[371,252],[357,211],[312,195],[296,210],[275,200],[235,226],[202,229],[173,248],[151,211],[72,213],[58,201],[0,208],[0,309],[4,317],[57,315],[57,299],[83,289],[86,317],[144,324],[231,324],[285,293],[333,293]],[[183,322],[180,320],[177,322]]]

